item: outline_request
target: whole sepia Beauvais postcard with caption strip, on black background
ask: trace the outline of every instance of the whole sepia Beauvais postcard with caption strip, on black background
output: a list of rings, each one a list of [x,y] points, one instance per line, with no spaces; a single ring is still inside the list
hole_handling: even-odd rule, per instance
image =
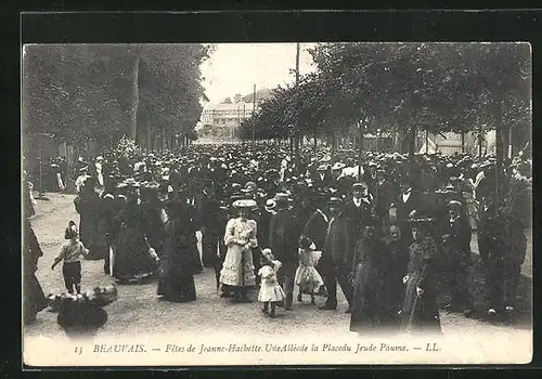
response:
[[[24,364],[531,362],[531,53],[22,45]]]

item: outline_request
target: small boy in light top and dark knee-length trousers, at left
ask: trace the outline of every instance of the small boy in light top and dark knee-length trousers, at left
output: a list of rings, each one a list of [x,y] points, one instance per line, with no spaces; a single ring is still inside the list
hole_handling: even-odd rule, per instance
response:
[[[67,240],[62,244],[61,252],[54,258],[51,270],[54,270],[56,264],[64,261],[62,265],[64,285],[69,293],[80,293],[81,257],[87,257],[89,254],[89,250],[79,240],[79,232],[77,231],[77,225],[73,221],[69,221],[64,238]]]

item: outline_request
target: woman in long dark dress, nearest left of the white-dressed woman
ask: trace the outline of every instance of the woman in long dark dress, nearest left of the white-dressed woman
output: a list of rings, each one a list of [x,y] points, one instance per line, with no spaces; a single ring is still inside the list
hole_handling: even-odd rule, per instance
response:
[[[186,302],[196,300],[194,264],[191,256],[191,227],[188,209],[179,200],[166,202],[168,221],[160,262],[158,296],[164,300]]]

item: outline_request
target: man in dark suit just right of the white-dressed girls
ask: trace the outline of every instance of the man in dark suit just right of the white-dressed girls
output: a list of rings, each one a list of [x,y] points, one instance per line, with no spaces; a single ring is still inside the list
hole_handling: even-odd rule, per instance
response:
[[[327,225],[324,249],[322,253],[322,274],[327,288],[327,300],[322,310],[337,309],[337,282],[348,301],[348,311],[351,312],[353,289],[348,280],[348,257],[350,250],[350,238],[348,233],[348,219],[344,212],[345,206],[341,199],[332,197],[330,199],[330,212],[332,219]]]

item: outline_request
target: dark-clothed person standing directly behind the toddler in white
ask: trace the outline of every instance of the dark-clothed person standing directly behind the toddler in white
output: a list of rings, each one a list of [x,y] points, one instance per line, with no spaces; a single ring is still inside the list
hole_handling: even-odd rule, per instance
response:
[[[282,263],[278,279],[286,293],[284,309],[292,310],[294,279],[299,261],[297,248],[300,227],[293,211],[288,208],[288,196],[278,194],[275,202],[278,212],[271,219],[269,247],[273,256]]]

